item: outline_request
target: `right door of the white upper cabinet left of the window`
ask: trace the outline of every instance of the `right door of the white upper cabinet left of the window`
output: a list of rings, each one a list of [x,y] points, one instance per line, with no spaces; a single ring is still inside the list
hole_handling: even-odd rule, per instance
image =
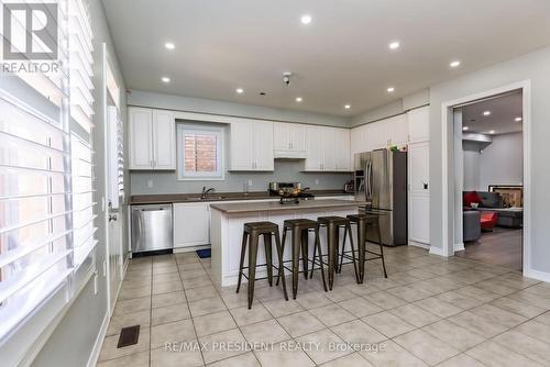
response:
[[[176,169],[176,121],[168,111],[153,110],[155,169]]]

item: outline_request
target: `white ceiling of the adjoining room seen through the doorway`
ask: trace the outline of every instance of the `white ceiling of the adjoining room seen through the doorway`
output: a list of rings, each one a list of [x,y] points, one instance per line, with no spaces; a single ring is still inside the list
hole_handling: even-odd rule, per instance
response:
[[[484,115],[485,111],[491,114]],[[522,118],[521,91],[462,108],[462,126],[469,127],[468,133],[488,134],[494,130],[498,135],[519,132],[522,124],[516,122],[516,118]]]

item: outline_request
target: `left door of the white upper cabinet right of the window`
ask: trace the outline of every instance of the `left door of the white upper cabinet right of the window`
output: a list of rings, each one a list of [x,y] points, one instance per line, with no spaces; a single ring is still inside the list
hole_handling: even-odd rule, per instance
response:
[[[231,170],[252,170],[254,126],[252,122],[233,122],[230,132]]]

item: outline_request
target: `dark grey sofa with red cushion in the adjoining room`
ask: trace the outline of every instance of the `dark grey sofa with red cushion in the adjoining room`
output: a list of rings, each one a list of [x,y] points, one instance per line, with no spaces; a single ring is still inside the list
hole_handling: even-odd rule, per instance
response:
[[[522,208],[504,208],[503,198],[498,192],[488,191],[464,191],[462,194],[464,210],[472,210],[472,203],[476,202],[475,210],[481,212],[495,212],[497,214],[496,225],[506,227],[521,227],[524,224]]]

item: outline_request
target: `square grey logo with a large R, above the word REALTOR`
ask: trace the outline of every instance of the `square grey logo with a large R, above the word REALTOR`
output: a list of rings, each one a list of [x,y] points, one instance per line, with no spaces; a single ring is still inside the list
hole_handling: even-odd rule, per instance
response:
[[[3,3],[3,59],[57,59],[57,3]]]

